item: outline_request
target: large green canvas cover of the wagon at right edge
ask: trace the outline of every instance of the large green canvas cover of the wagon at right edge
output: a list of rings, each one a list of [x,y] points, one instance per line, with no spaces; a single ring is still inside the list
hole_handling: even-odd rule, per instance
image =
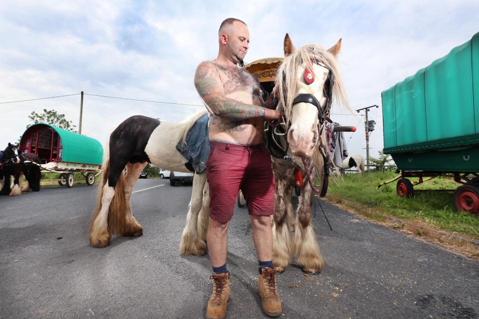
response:
[[[381,96],[386,154],[479,144],[479,33]]]

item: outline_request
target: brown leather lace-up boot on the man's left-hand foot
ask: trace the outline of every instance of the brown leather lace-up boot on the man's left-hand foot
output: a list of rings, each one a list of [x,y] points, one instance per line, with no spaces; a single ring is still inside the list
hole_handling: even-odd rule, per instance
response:
[[[210,279],[213,279],[213,293],[208,301],[206,319],[224,319],[230,300],[230,273],[211,274]]]

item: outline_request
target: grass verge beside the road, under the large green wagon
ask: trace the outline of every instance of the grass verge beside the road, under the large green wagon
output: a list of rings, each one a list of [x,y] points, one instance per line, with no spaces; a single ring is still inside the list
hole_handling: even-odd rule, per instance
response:
[[[385,226],[479,258],[479,246],[470,242],[479,242],[479,218],[456,211],[454,192],[416,192],[408,199],[396,194],[396,182],[377,188],[395,176],[392,172],[346,174],[337,182],[330,181],[326,199]],[[440,177],[414,188],[455,190],[458,186],[452,179]]]

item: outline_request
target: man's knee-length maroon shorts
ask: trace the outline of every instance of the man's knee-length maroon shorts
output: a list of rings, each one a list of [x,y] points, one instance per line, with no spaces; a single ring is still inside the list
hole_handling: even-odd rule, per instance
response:
[[[206,163],[210,184],[210,217],[226,223],[233,217],[239,190],[250,215],[274,212],[274,177],[271,157],[262,144],[242,146],[211,142]]]

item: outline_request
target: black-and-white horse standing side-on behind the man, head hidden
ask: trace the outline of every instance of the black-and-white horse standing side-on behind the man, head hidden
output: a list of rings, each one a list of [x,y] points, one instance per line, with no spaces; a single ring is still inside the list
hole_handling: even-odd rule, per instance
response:
[[[130,206],[131,193],[140,172],[147,163],[167,170],[190,172],[188,161],[178,152],[176,145],[204,113],[195,114],[181,123],[136,115],[123,121],[110,134],[103,153],[102,183],[88,232],[91,246],[108,246],[112,234],[143,234],[143,227],[133,217]],[[126,175],[123,174],[125,167]],[[204,255],[206,252],[208,198],[206,171],[195,174],[187,224],[180,243],[182,254]],[[200,216],[202,206],[206,210]]]

